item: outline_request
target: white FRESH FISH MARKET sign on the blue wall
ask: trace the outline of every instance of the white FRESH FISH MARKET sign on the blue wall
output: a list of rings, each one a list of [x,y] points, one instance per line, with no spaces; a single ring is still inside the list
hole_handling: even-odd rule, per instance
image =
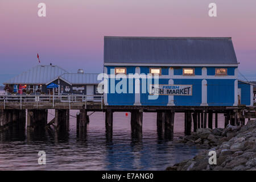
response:
[[[151,85],[151,94],[166,96],[192,96],[192,85]]]

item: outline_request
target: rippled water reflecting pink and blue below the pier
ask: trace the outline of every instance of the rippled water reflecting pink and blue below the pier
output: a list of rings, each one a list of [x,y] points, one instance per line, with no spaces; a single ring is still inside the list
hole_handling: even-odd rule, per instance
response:
[[[71,115],[76,112],[72,110]],[[49,110],[48,120],[53,113]],[[183,115],[175,115],[174,140],[183,135]],[[220,115],[219,121],[222,120]],[[39,151],[46,152],[46,165],[38,164]],[[73,117],[64,134],[57,134],[54,129],[35,134],[26,127],[0,133],[0,170],[164,170],[197,152],[196,147],[159,136],[155,113],[143,114],[142,139],[131,135],[130,113],[114,113],[112,139],[106,136],[105,115],[101,112],[90,115],[87,132],[80,137]]]

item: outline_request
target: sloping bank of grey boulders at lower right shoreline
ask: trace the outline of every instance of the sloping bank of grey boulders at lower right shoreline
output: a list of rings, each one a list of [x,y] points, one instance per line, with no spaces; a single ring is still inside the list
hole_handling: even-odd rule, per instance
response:
[[[167,167],[171,171],[256,170],[256,120],[246,126],[228,125],[225,129],[198,129],[179,142],[206,149],[193,159]],[[209,151],[216,152],[216,164],[209,164]]]

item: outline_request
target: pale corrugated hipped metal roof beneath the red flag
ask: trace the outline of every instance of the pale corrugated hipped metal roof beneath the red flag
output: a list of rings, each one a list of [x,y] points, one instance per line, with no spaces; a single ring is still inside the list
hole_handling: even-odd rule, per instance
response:
[[[46,84],[63,73],[68,72],[56,65],[37,65],[3,84]]]

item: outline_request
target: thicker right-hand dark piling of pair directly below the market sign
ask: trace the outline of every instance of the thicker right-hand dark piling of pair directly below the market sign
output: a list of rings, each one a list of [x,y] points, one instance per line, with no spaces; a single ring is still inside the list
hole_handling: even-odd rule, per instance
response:
[[[174,137],[174,116],[175,111],[167,111],[164,117],[164,138],[172,139]]]

